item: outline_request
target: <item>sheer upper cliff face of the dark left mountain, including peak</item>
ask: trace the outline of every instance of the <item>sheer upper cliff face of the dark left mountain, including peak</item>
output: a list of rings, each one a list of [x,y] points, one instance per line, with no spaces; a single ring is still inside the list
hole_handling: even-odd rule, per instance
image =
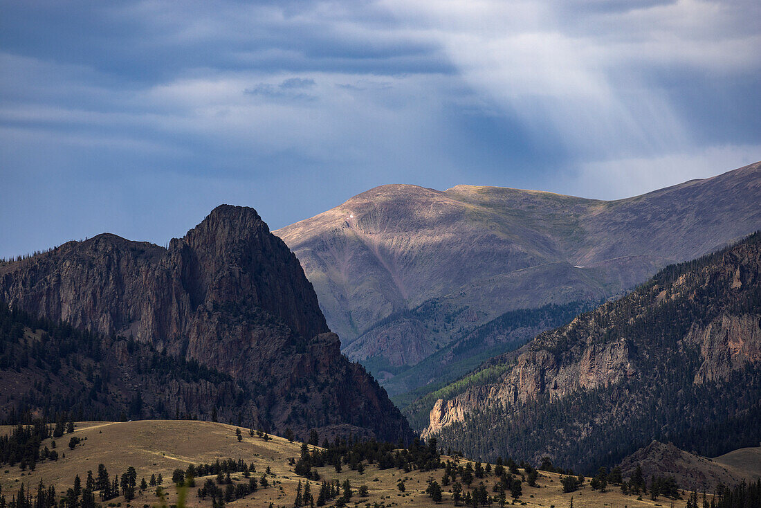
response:
[[[9,304],[173,347],[203,308],[246,302],[301,337],[330,331],[295,256],[253,209],[218,206],[170,248],[103,234],[0,268]]]

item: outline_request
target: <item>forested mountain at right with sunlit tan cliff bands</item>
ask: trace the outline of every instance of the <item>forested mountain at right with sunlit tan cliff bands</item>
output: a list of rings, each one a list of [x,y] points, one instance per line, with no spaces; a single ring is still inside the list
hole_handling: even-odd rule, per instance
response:
[[[472,457],[614,465],[652,439],[715,456],[761,439],[761,232],[671,265],[412,404]],[[414,423],[413,423],[414,425]]]

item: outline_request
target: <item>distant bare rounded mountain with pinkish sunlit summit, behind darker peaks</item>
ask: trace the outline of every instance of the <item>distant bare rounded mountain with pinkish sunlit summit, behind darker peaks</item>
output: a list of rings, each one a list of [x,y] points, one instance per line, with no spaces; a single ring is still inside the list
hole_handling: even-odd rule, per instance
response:
[[[394,395],[441,381],[393,378],[505,312],[617,296],[756,231],[759,196],[761,163],[616,201],[384,185],[274,233],[345,353]]]

